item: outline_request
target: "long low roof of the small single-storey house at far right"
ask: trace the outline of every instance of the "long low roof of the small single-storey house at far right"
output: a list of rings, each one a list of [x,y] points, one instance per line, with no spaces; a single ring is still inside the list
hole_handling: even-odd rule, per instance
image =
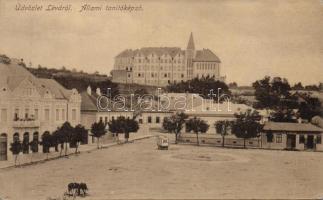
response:
[[[323,132],[323,129],[309,123],[266,122],[263,129],[266,131]]]

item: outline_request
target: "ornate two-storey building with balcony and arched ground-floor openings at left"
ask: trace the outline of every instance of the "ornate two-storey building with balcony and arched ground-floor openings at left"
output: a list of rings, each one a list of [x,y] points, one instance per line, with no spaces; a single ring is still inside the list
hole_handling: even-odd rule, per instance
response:
[[[15,59],[0,62],[0,160],[14,140],[40,139],[68,121],[80,123],[81,97],[53,79],[37,78]],[[29,148],[23,153],[29,153]]]

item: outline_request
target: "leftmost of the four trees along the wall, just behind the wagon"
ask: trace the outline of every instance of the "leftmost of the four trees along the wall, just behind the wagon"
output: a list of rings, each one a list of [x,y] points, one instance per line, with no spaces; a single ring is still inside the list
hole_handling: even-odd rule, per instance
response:
[[[180,134],[187,118],[188,116],[183,112],[164,118],[163,128],[169,133],[175,134],[175,144],[177,144],[178,135]]]

